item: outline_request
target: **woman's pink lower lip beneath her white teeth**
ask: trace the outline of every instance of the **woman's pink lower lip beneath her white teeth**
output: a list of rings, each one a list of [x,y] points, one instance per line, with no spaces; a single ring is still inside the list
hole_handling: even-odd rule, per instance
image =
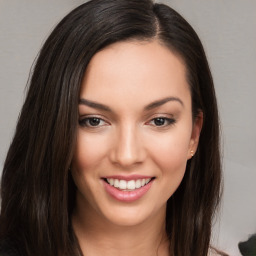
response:
[[[151,188],[152,183],[154,180],[150,181],[147,185],[141,187],[141,188],[137,188],[135,190],[131,190],[131,191],[122,191],[119,190],[113,186],[111,186],[110,184],[108,184],[107,182],[103,181],[105,190],[107,191],[107,193],[112,196],[113,198],[115,198],[118,201],[122,201],[122,202],[133,202],[136,201],[138,199],[140,199],[142,196],[144,196],[148,190]]]

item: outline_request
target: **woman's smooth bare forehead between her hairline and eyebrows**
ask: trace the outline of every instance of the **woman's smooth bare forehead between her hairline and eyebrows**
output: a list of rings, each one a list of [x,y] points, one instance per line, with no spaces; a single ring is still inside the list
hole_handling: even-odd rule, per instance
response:
[[[185,65],[157,41],[112,44],[94,55],[81,86],[81,97],[91,100],[109,103],[111,94],[123,103],[166,96],[190,101]]]

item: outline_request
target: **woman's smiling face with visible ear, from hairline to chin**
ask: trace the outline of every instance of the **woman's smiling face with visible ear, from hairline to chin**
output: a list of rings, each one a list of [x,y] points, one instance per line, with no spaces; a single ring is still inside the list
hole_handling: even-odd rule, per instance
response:
[[[157,41],[115,43],[92,58],[72,165],[78,212],[126,226],[165,216],[201,129],[185,72]]]

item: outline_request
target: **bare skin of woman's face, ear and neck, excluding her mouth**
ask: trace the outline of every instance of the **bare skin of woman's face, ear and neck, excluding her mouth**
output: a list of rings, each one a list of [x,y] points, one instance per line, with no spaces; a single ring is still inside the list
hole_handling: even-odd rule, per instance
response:
[[[185,65],[158,41],[115,43],[92,58],[80,99],[108,108],[79,104],[73,226],[83,253],[168,255],[166,202],[202,127],[202,115],[192,120]],[[155,177],[140,199],[121,202],[104,189],[102,177],[132,174]]]

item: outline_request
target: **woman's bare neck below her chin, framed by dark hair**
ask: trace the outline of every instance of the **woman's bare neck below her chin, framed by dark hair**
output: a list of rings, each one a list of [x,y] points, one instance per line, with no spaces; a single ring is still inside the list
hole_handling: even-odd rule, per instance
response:
[[[109,222],[92,211],[79,209],[73,214],[73,227],[86,256],[168,256],[165,209],[160,214],[133,226]]]

